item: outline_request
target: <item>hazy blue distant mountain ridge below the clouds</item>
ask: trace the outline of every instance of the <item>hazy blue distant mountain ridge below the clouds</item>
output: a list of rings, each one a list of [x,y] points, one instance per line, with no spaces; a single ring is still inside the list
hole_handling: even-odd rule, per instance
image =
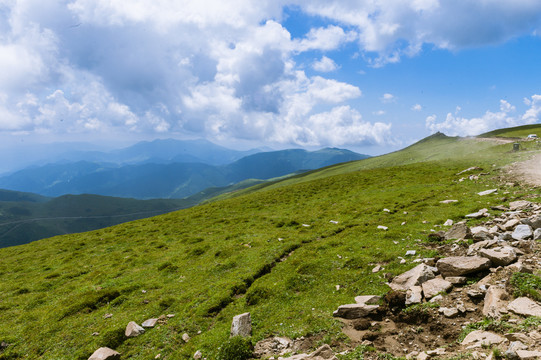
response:
[[[205,141],[191,142],[194,147],[190,151],[184,148],[173,150],[186,144],[177,140],[156,140],[113,152],[108,162],[77,161],[34,166],[0,177],[0,188],[50,197],[97,194],[136,199],[181,199],[206,188],[229,186],[246,179],[266,180],[368,157],[336,148],[311,152],[293,149],[260,152],[227,165],[211,165],[195,162],[195,159],[222,162],[234,159],[240,153]],[[178,159],[184,162],[177,162]],[[119,164],[121,160],[127,164]]]

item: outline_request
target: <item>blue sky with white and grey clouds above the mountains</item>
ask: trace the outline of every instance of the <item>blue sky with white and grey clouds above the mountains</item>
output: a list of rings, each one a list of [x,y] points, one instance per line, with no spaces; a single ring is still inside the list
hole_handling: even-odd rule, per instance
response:
[[[376,155],[538,123],[539,0],[0,0],[0,142]]]

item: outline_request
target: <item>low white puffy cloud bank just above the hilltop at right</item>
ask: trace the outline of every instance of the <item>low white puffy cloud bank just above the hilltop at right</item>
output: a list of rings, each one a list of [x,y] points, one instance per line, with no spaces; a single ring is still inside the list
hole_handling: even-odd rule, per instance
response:
[[[523,115],[514,115],[516,107],[505,100],[500,100],[500,111],[487,111],[482,116],[465,118],[457,113],[448,113],[445,120],[438,122],[436,115],[426,118],[426,127],[431,132],[441,131],[451,136],[474,136],[490,130],[532,124],[540,120],[541,96],[533,95],[526,99],[530,106]]]

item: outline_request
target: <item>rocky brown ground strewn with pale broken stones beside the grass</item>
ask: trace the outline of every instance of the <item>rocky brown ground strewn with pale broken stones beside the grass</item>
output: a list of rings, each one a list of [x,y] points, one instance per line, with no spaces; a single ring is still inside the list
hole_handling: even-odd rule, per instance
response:
[[[324,346],[300,353],[306,339],[273,338],[258,343],[256,355],[336,359],[364,345],[364,359],[381,359],[383,353],[409,359],[541,359],[541,303],[517,287],[523,281],[535,292],[536,277],[514,275],[541,271],[541,205],[517,201],[495,210],[503,213],[491,217],[490,209],[480,209],[465,215],[485,218],[482,225],[470,228],[463,221],[431,234],[426,246],[445,256],[417,259],[418,266],[389,282],[383,299],[358,296],[340,306],[334,315],[344,323],[350,350],[333,344],[334,351]]]

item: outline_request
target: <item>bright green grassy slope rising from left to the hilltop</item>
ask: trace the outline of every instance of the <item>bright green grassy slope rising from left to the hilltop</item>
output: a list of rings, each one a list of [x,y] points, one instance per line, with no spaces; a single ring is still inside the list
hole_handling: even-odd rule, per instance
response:
[[[416,239],[435,225],[501,203],[501,194],[476,193],[499,185],[500,166],[517,156],[508,150],[436,138],[245,196],[2,249],[0,340],[13,345],[0,359],[86,359],[106,345],[129,359],[187,359],[197,349],[213,358],[232,316],[245,311],[255,341],[320,332],[323,341],[340,339],[332,311],[387,291],[373,264],[398,274],[413,266],[399,264],[406,250],[431,255]],[[458,182],[470,166],[490,174]],[[507,191],[509,200],[523,195]],[[440,203],[449,198],[460,202]],[[117,336],[129,321],[167,313],[176,316],[142,336]]]

